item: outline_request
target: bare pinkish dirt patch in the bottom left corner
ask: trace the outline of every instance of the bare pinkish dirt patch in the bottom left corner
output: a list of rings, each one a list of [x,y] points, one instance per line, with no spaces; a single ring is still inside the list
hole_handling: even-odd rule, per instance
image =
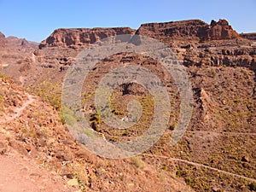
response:
[[[0,155],[0,170],[0,191],[72,191],[60,176],[20,154]]]

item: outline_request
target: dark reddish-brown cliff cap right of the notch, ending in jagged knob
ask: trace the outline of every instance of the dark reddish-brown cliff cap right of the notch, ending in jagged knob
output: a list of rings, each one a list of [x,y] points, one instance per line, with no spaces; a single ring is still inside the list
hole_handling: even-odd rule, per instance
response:
[[[199,38],[200,40],[224,40],[238,38],[239,34],[232,29],[226,20],[212,20],[211,25],[201,20],[182,20],[166,23],[143,24],[136,32],[151,38]]]

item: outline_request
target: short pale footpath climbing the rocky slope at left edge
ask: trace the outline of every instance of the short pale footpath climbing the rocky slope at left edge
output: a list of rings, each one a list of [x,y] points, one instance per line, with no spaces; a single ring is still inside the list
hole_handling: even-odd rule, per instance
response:
[[[5,119],[1,122],[1,123],[9,123],[10,121],[20,117],[20,115],[23,113],[23,111],[30,105],[32,104],[32,102],[35,101],[34,96],[29,95],[28,93],[26,93],[26,96],[28,98],[28,100],[26,102],[24,102],[22,104],[22,106],[20,108],[15,108],[14,110],[14,114],[11,116],[5,116]]]

